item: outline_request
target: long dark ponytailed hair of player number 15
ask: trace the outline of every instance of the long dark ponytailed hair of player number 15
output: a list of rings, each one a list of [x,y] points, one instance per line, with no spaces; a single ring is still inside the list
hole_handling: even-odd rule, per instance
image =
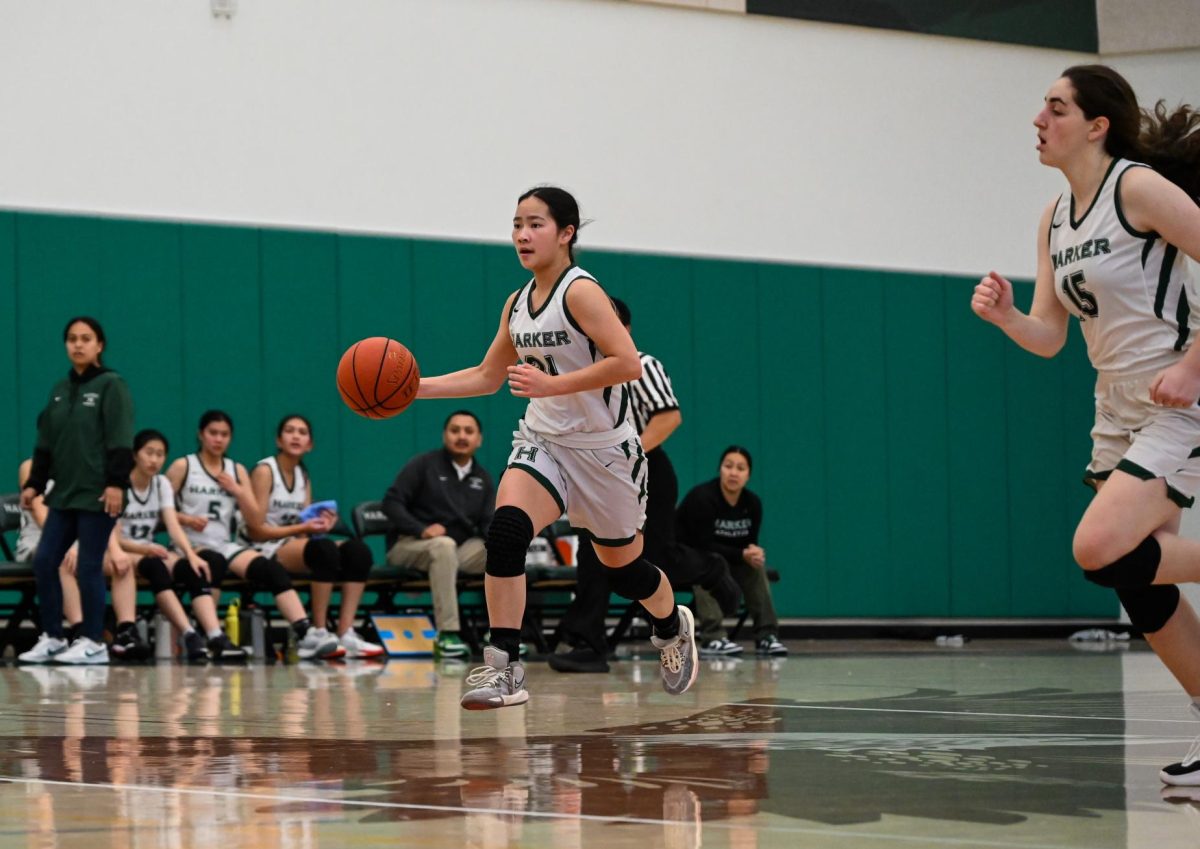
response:
[[[1108,65],[1073,65],[1062,76],[1085,118],[1109,119],[1109,156],[1145,162],[1200,204],[1200,113],[1187,103],[1168,109],[1162,100],[1142,109],[1133,86]]]

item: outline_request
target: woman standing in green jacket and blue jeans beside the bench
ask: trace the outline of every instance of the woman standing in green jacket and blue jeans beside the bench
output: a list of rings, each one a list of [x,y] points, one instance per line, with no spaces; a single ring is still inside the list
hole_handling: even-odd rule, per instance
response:
[[[62,331],[71,371],[50,391],[37,417],[34,465],[20,492],[22,507],[46,494],[48,513],[34,556],[42,636],[20,655],[23,663],[108,663],[102,642],[103,558],[124,505],[133,454],[133,402],[121,377],[103,366],[104,330],[89,317],[73,318]],[[62,586],[59,565],[79,541],[77,580],[83,627],[67,646],[62,639]]]

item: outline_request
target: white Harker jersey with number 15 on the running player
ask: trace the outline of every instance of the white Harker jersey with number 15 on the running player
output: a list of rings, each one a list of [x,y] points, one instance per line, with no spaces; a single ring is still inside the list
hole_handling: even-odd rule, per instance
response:
[[[1177,361],[1192,344],[1200,306],[1187,257],[1157,233],[1134,230],[1121,210],[1121,177],[1139,167],[1114,161],[1081,217],[1068,191],[1050,221],[1055,293],[1105,373],[1140,374]]]

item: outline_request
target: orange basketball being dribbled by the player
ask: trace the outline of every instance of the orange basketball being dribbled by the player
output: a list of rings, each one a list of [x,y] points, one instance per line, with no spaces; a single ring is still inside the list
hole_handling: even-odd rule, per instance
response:
[[[416,359],[386,336],[355,342],[337,363],[337,391],[342,401],[367,419],[400,415],[416,398],[420,384]]]

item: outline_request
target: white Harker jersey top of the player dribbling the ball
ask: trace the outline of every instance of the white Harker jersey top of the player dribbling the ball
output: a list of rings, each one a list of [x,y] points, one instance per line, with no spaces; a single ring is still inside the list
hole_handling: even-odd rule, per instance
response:
[[[569,267],[539,309],[533,308],[533,281],[517,293],[509,313],[509,336],[521,362],[565,374],[604,359],[566,308],[566,291],[581,277],[593,279],[578,266]],[[630,423],[629,390],[624,385],[530,398],[524,422],[552,442],[578,448],[619,445],[637,433]]]

